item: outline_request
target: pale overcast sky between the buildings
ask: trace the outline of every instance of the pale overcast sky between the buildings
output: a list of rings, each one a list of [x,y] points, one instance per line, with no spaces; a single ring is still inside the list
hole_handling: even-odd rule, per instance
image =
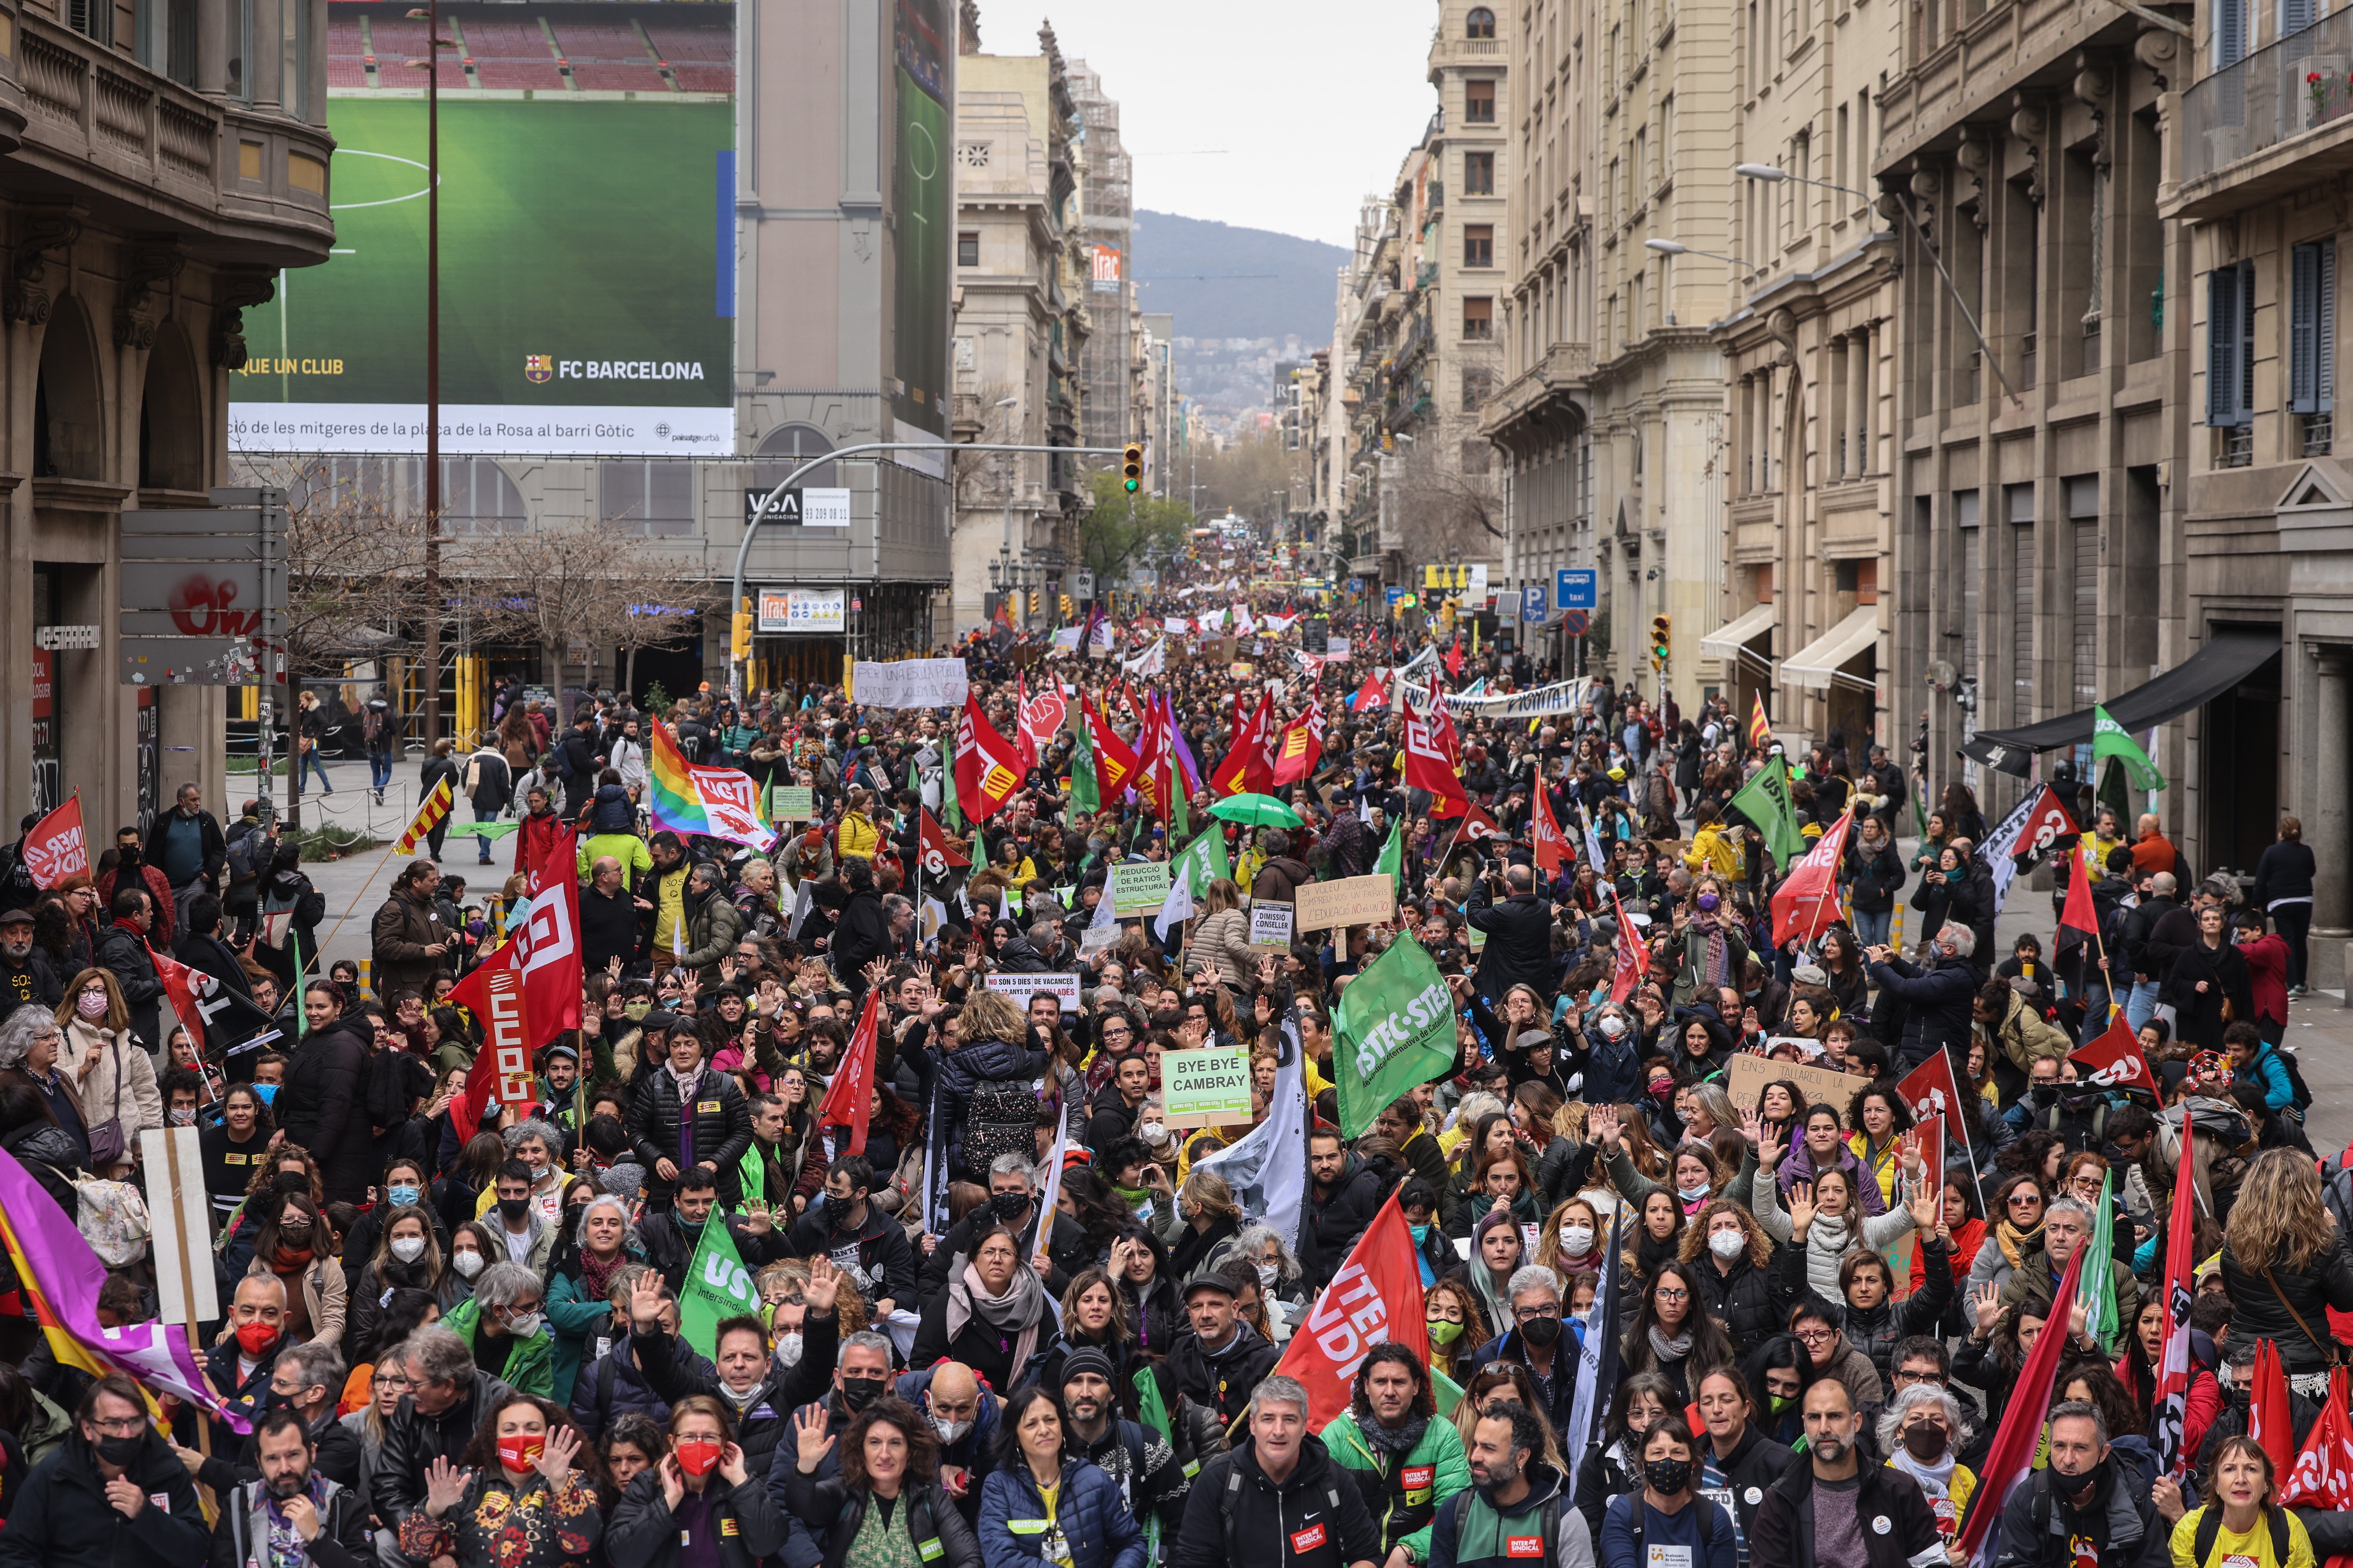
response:
[[[1355,242],[1438,106],[1435,0],[981,0],[988,54],[1054,24],[1120,103],[1136,207]]]

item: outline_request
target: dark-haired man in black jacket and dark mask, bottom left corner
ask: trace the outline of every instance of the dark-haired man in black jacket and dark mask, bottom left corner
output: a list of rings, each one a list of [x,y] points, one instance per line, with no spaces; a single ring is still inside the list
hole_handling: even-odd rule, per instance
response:
[[[139,1385],[111,1375],[89,1385],[66,1441],[9,1500],[0,1561],[136,1563],[205,1561],[205,1514],[195,1483],[148,1425]],[[322,1566],[325,1568],[325,1566]]]

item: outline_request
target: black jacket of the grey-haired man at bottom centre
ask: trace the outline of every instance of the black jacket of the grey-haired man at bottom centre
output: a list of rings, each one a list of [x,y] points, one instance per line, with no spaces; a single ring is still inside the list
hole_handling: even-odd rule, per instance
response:
[[[1301,1537],[1308,1544],[1301,1547]],[[1339,1474],[1318,1436],[1299,1439],[1299,1462],[1280,1483],[1259,1467],[1254,1443],[1240,1443],[1193,1479],[1172,1568],[1339,1568],[1379,1563],[1379,1528],[1358,1488]],[[1247,1544],[1245,1544],[1247,1542]]]

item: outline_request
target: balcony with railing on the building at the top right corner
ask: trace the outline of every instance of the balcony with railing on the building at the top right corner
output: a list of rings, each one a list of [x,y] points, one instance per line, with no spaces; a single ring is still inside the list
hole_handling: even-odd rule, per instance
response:
[[[2181,190],[2165,216],[2212,219],[2353,169],[2353,9],[2224,66],[2181,94]]]

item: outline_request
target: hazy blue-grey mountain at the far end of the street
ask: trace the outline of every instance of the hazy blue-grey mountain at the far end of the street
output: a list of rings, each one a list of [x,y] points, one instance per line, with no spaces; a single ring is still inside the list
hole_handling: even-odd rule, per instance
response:
[[[1348,261],[1337,244],[1139,212],[1134,256],[1139,306],[1174,315],[1176,336],[1332,341],[1334,275]]]

